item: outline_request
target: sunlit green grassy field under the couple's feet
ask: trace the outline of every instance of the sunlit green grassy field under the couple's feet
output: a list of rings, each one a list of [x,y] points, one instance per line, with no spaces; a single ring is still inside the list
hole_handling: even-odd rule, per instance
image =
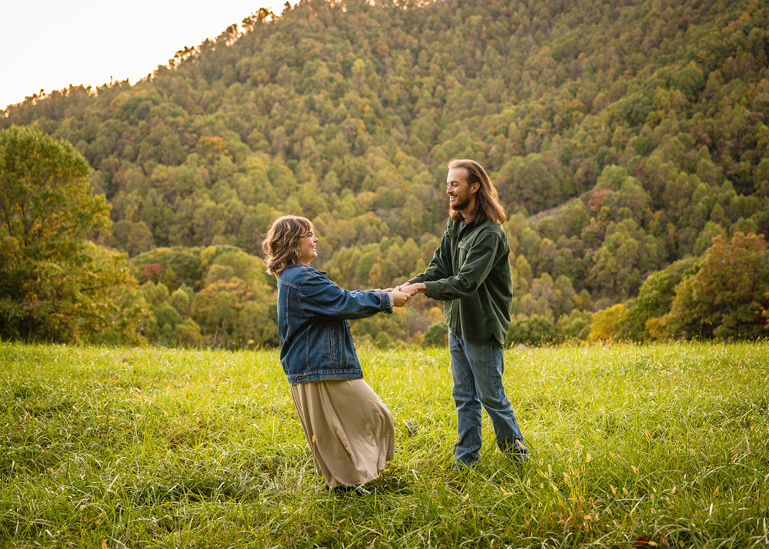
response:
[[[359,351],[395,460],[335,495],[274,351],[0,344],[0,547],[767,547],[769,344],[508,351],[531,448],[451,471],[445,350]]]

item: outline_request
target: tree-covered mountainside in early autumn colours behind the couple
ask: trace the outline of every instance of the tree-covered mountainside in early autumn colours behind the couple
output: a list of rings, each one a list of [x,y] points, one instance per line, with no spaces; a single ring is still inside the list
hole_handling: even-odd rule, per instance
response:
[[[342,287],[420,271],[453,158],[481,162],[511,214],[518,328],[536,319],[584,337],[593,311],[622,304],[625,335],[647,338],[714,237],[769,235],[767,57],[757,0],[302,0],[181,49],[135,85],[10,105],[0,129],[75,145],[112,205],[102,243],[127,251],[141,281],[197,250],[198,271],[179,264],[163,281],[168,296],[188,281],[191,303],[169,339],[182,318],[231,328],[195,317],[201,291],[238,311],[265,298],[269,281],[253,291],[237,269],[201,265],[231,263],[232,246],[259,255],[280,214],[314,221],[316,266]],[[639,314],[658,272],[665,306]],[[156,313],[169,304],[158,300]],[[384,343],[424,334],[440,311],[412,303],[356,330]]]

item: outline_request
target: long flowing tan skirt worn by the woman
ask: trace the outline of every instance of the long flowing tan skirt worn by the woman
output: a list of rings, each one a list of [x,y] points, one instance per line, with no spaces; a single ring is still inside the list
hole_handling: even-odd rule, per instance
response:
[[[291,397],[329,487],[373,481],[393,458],[392,414],[362,379],[293,384]]]

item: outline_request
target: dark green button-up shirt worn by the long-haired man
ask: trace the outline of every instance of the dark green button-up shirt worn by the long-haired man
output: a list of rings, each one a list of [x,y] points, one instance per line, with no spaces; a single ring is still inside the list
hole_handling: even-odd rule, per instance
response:
[[[498,222],[449,219],[427,270],[409,282],[424,282],[428,298],[446,301],[444,317],[454,335],[504,345],[513,301],[509,255],[508,235]]]

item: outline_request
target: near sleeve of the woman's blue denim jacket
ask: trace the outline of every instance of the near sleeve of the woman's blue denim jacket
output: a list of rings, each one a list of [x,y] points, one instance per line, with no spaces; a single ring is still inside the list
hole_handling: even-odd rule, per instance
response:
[[[386,292],[342,290],[320,271],[312,272],[298,289],[301,311],[310,317],[351,320],[392,312],[391,296]]]

